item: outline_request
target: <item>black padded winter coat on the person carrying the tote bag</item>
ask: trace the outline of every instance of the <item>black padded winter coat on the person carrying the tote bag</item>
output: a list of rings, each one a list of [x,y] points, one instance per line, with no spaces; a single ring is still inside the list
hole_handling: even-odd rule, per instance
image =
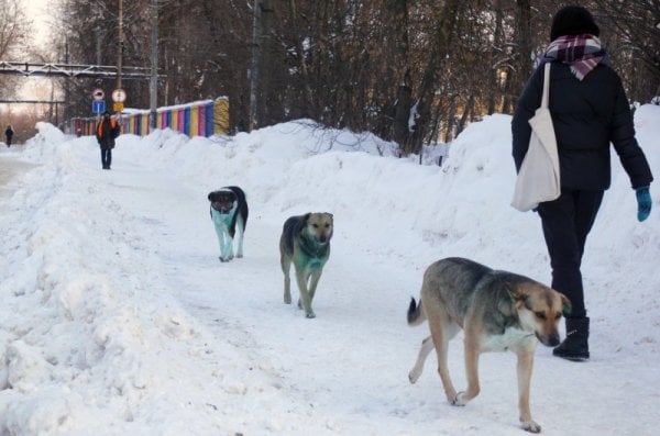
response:
[[[543,67],[534,72],[512,122],[516,170],[527,154],[529,119],[541,103]],[[614,145],[632,188],[653,180],[644,152],[635,139],[635,127],[618,75],[600,64],[580,81],[570,66],[552,63],[550,112],[559,150],[562,188],[606,190],[612,181],[609,144]]]

